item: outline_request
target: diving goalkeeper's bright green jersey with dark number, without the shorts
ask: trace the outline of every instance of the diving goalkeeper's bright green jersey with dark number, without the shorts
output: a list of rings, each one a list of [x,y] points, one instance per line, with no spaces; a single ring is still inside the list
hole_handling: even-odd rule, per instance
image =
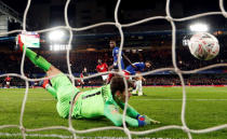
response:
[[[123,115],[119,112],[119,107],[123,109],[124,103],[118,105],[112,98],[110,85],[105,85],[103,87],[82,93],[76,101],[72,117],[93,119],[106,116],[116,126],[121,126]],[[130,126],[138,126],[138,122],[136,120],[137,115],[138,112],[129,106],[125,122]]]

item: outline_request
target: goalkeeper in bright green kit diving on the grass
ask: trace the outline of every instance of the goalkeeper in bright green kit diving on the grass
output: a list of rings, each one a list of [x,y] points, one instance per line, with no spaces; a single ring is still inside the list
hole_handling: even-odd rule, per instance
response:
[[[18,36],[18,44],[21,51],[25,45]],[[80,92],[72,85],[69,79],[57,68],[52,66],[43,57],[37,55],[29,48],[25,50],[26,56],[39,68],[46,72],[51,78],[52,86],[44,82],[45,89],[57,100],[56,109],[61,117],[68,117],[71,100],[74,102],[71,117],[74,119],[94,119],[106,116],[116,126],[122,126],[123,115],[119,112],[119,107],[124,108],[125,86],[123,79],[115,77],[109,85],[105,85],[92,91]],[[128,83],[129,86],[131,85]],[[129,97],[131,94],[129,93]],[[128,107],[125,122],[130,126],[145,126],[148,124],[157,124],[158,121],[151,120],[146,115],[141,115],[132,107]]]

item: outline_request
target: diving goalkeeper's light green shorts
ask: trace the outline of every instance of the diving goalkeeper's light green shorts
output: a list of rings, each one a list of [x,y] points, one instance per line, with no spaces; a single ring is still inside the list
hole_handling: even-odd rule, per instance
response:
[[[70,101],[80,91],[72,85],[69,79],[64,74],[59,73],[51,79],[52,86],[56,89],[57,105],[56,109],[62,117],[68,117]]]

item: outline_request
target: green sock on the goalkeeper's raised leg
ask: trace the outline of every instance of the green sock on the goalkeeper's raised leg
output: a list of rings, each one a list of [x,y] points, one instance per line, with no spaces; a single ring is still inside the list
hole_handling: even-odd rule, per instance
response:
[[[23,45],[23,50],[25,46]],[[48,71],[51,67],[51,64],[46,61],[42,56],[37,55],[34,51],[26,47],[26,56],[39,68]]]

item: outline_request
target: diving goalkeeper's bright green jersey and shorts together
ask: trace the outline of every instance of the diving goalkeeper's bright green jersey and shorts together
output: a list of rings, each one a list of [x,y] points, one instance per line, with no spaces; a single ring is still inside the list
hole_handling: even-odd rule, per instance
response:
[[[80,91],[71,84],[64,73],[52,78],[51,83],[52,92],[48,91],[57,99],[57,113],[62,117],[68,117],[71,100]],[[83,92],[74,106],[71,116],[75,119],[106,116],[115,125],[121,126],[123,115],[119,112],[119,108],[123,109],[124,103],[117,103],[112,98],[110,85],[105,85]],[[138,112],[128,106],[125,122],[130,126],[138,126],[137,115]]]

